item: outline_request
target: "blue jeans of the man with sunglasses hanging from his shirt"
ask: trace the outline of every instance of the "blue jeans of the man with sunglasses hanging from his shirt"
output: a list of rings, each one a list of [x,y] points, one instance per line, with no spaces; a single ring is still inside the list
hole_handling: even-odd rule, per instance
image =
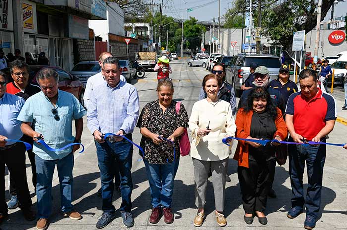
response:
[[[38,218],[49,218],[52,213],[52,177],[56,165],[60,182],[61,211],[64,213],[70,212],[73,209],[73,205],[71,204],[73,153],[59,160],[44,160],[35,155],[35,164],[37,174],[36,196]]]

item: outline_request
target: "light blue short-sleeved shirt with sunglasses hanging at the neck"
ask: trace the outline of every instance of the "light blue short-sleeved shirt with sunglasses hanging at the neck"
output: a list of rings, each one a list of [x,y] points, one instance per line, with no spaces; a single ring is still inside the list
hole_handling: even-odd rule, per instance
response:
[[[53,108],[58,111],[59,120],[54,119]],[[50,100],[41,91],[26,100],[17,119],[23,122],[33,122],[34,130],[43,135],[48,146],[58,149],[74,141],[72,119],[80,119],[84,115],[86,115],[86,110],[73,94],[58,90],[56,107],[53,107]],[[37,143],[34,143],[33,147],[33,152],[44,160],[62,159],[71,151],[72,146],[58,152],[49,151]]]

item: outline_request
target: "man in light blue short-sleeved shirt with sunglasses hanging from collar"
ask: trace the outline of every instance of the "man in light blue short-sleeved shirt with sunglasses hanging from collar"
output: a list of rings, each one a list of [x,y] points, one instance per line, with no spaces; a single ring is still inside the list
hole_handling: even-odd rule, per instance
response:
[[[22,73],[20,73],[22,74]],[[73,187],[74,155],[80,146],[73,145],[60,151],[50,151],[37,143],[44,140],[51,148],[62,148],[71,143],[81,143],[83,116],[86,110],[71,93],[58,89],[59,75],[51,68],[43,68],[36,77],[41,92],[29,97],[18,120],[21,130],[34,140],[33,152],[36,163],[37,229],[47,229],[52,213],[52,179],[54,168],[60,182],[61,211],[72,220],[82,218],[71,204]],[[75,137],[72,135],[72,121],[75,121]],[[34,125],[34,129],[32,128]]]

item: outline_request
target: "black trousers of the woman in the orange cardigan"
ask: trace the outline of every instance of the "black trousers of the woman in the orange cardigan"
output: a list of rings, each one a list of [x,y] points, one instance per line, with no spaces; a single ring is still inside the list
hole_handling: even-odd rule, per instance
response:
[[[249,161],[249,168],[237,168],[242,192],[242,204],[246,213],[264,212],[267,196],[275,176],[275,159]]]

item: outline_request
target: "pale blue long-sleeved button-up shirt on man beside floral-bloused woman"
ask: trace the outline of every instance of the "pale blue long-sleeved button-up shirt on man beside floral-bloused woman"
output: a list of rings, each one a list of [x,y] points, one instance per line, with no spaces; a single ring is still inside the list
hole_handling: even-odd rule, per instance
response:
[[[131,84],[120,81],[112,88],[105,81],[93,89],[88,105],[88,129],[94,133],[132,133],[139,116],[139,97]]]

